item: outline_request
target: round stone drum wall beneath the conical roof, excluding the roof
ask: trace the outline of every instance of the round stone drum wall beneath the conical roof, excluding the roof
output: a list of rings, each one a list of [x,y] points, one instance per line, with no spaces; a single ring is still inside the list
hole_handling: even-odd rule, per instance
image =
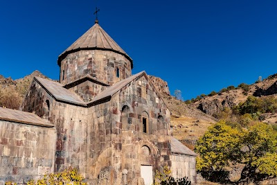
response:
[[[117,68],[120,71],[119,78],[116,77]],[[65,85],[89,74],[101,82],[113,85],[131,76],[131,70],[131,62],[118,53],[100,50],[78,51],[70,53],[62,60],[60,82]]]

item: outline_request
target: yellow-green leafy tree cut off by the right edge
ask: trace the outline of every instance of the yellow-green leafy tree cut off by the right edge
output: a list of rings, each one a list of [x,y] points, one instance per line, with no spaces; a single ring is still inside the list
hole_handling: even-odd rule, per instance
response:
[[[270,125],[258,123],[249,128],[243,138],[242,180],[258,182],[277,175],[277,132]]]

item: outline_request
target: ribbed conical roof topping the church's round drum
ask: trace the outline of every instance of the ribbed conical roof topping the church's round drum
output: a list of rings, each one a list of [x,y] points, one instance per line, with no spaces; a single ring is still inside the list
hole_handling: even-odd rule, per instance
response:
[[[127,53],[116,44],[114,39],[112,39],[97,22],[89,28],[84,35],[69,46],[68,49],[62,52],[57,59],[57,64],[60,66],[61,61],[66,58],[66,55],[80,50],[107,50],[120,53],[121,55],[125,55],[125,57],[131,62],[133,68],[132,58],[130,58],[129,55],[127,55]]]

